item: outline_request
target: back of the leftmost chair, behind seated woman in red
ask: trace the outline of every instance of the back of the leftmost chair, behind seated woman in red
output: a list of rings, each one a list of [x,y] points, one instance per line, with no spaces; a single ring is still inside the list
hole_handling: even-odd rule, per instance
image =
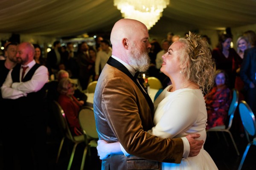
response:
[[[70,131],[69,125],[67,123],[66,115],[63,109],[61,108],[61,106],[58,104],[58,102],[56,101],[52,102],[52,111],[55,115],[55,118],[58,123],[58,127],[60,128],[62,135],[66,136],[68,139],[72,141],[75,141]]]

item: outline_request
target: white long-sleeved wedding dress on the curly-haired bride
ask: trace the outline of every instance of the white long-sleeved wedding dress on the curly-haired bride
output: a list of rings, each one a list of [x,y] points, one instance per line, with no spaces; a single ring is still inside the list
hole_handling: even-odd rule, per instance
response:
[[[168,86],[154,102],[154,125],[148,133],[160,138],[180,138],[199,133],[198,140],[206,140],[207,111],[201,90],[179,89],[167,91]],[[198,156],[182,159],[180,164],[162,163],[163,170],[218,170],[211,156],[201,149]]]

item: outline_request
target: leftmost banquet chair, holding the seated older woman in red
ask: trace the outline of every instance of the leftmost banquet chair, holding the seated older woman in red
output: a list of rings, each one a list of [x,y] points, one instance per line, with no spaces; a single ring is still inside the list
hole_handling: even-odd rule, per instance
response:
[[[73,158],[74,158],[74,155],[75,155],[75,151],[76,151],[76,146],[79,143],[84,142],[84,136],[83,135],[79,135],[79,136],[73,136],[72,135],[72,133],[70,131],[70,128],[69,128],[69,125],[67,123],[65,113],[62,110],[61,106],[58,104],[58,102],[56,102],[56,101],[52,102],[52,111],[55,114],[55,118],[57,120],[58,126],[59,126],[59,128],[61,130],[61,133],[63,135],[63,138],[61,139],[60,147],[58,149],[56,164],[58,163],[58,159],[59,159],[59,156],[60,156],[60,153],[61,153],[61,149],[62,149],[64,140],[67,138],[67,139],[69,139],[70,141],[72,141],[74,143],[73,150],[72,150],[72,153],[71,153],[71,156],[70,156],[70,161],[69,161],[69,164],[68,164],[68,167],[67,167],[67,170],[70,170],[71,164],[72,164],[72,161],[73,161]]]

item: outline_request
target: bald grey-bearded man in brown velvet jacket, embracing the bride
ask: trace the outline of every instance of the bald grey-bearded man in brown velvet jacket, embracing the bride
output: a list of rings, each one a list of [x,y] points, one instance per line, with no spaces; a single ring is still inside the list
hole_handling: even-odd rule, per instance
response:
[[[102,160],[103,170],[158,170],[159,162],[180,163],[202,147],[203,142],[194,139],[199,137],[196,134],[160,139],[147,133],[154,126],[154,105],[134,75],[149,67],[148,38],[147,27],[137,20],[121,19],[111,31],[112,56],[96,86],[94,115],[99,139],[119,141],[130,155],[108,156]]]

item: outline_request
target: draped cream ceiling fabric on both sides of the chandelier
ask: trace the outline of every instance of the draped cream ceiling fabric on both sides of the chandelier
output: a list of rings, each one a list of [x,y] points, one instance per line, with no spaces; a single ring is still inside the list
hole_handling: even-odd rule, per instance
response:
[[[113,0],[0,0],[0,33],[68,37],[110,32],[121,18]],[[255,23],[256,0],[170,0],[149,33]]]

